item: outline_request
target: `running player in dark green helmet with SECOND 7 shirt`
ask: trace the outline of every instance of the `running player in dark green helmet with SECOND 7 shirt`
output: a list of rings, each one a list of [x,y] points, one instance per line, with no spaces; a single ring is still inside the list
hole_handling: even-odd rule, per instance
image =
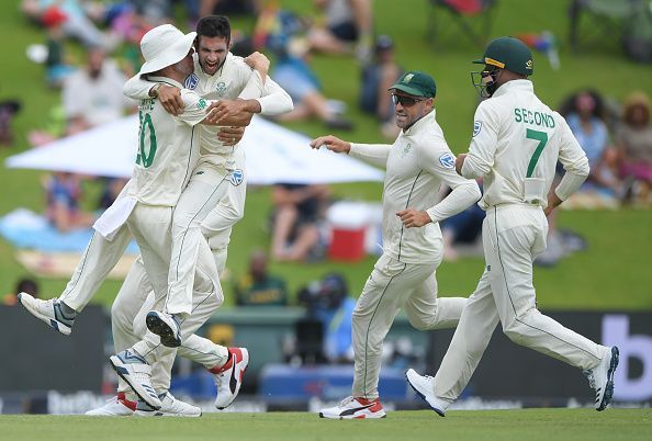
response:
[[[498,321],[517,344],[584,371],[604,410],[614,394],[618,348],[564,328],[537,309],[532,262],[546,249],[547,215],[588,176],[588,160],[563,116],[535,94],[532,55],[519,39],[492,41],[474,86],[485,98],[475,111],[466,155],[456,161],[464,178],[484,178],[479,205],[486,211],[482,238],[486,267],[435,377],[408,370],[406,378],[445,416],[469,383]],[[565,173],[552,190],[557,161]]]

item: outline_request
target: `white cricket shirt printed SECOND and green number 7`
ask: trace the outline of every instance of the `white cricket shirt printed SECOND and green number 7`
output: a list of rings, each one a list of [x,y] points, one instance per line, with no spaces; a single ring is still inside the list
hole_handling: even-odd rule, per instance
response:
[[[557,194],[565,200],[588,176],[588,159],[565,120],[535,95],[532,82],[513,80],[477,106],[462,176],[484,178],[484,210],[546,207],[558,158],[566,173]]]

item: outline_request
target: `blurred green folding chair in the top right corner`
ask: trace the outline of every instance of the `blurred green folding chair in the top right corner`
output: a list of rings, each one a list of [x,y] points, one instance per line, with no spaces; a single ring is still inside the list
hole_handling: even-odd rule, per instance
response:
[[[642,0],[573,0],[569,11],[571,47],[577,52],[605,39],[620,47],[627,22],[641,8]]]

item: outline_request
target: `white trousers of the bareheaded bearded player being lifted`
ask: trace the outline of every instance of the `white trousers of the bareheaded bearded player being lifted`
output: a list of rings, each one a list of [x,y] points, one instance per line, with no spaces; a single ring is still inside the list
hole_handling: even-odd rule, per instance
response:
[[[172,253],[169,260],[168,295],[165,312],[188,316],[192,309],[192,286],[195,265],[201,259],[213,262],[209,242],[201,230],[201,223],[217,206],[228,191],[228,172],[213,165],[200,165],[193,171],[188,186],[175,207],[172,216]],[[216,281],[221,291],[217,269],[213,263],[209,278]]]

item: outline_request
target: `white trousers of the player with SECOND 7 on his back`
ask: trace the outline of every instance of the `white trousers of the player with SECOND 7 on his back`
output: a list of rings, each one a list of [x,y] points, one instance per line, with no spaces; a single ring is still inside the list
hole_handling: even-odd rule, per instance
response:
[[[548,220],[537,205],[492,206],[482,224],[486,267],[435,376],[435,395],[456,400],[475,371],[498,324],[515,343],[593,369],[607,348],[537,309],[532,262],[546,250]]]

